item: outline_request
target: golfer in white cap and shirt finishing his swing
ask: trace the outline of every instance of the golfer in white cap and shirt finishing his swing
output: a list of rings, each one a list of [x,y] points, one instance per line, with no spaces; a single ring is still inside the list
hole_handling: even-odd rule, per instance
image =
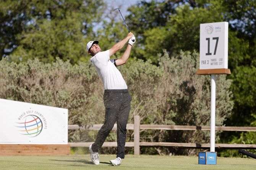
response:
[[[110,60],[110,56],[123,48],[128,41],[128,46],[120,59]],[[99,41],[90,41],[86,45],[86,50],[91,54],[90,61],[94,65],[100,79],[104,84],[104,106],[105,106],[105,121],[100,128],[95,142],[89,146],[91,152],[91,160],[94,164],[99,164],[99,149],[103,145],[105,139],[112,130],[117,121],[117,158],[110,160],[114,165],[120,165],[122,159],[125,158],[125,139],[126,139],[126,124],[131,109],[131,95],[128,92],[127,85],[117,66],[127,62],[131,46],[135,43],[133,33],[128,33],[125,39],[115,44],[107,51],[101,51],[98,45]]]

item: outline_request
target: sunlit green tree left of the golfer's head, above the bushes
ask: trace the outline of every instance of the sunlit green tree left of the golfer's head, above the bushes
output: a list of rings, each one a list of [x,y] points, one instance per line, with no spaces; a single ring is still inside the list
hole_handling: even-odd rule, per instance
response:
[[[99,20],[102,0],[11,1],[1,2],[1,57],[11,60],[39,58],[44,62],[57,57],[76,63],[86,60],[88,37]],[[91,40],[91,39],[90,39]]]

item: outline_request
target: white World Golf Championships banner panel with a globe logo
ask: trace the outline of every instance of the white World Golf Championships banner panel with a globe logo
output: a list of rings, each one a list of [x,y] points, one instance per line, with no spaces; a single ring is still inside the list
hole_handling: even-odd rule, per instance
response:
[[[68,144],[68,109],[0,99],[0,144]]]

